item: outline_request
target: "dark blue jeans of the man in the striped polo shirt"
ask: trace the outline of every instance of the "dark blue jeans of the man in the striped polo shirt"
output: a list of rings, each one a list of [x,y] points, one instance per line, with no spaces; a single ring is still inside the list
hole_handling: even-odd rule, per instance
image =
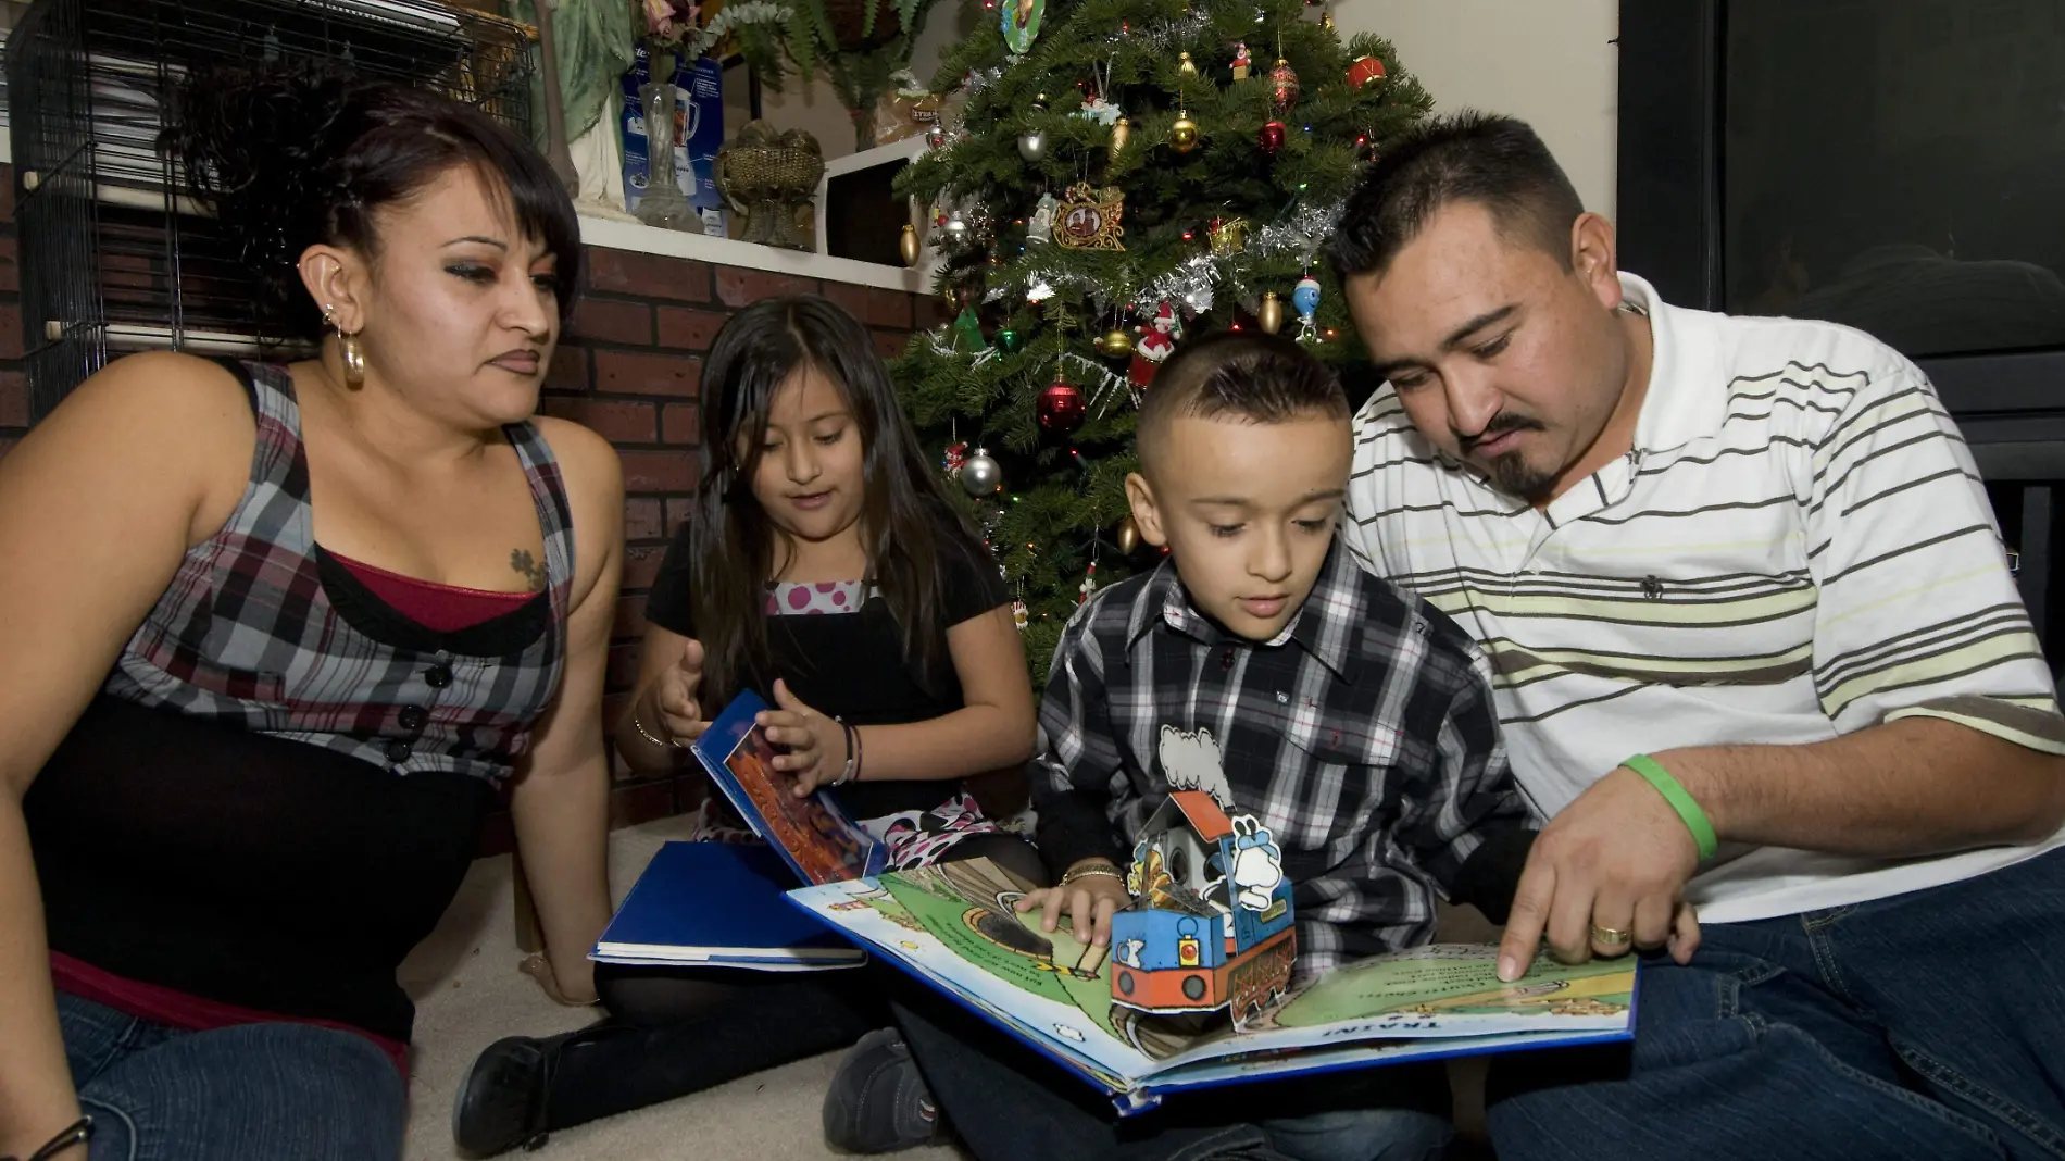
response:
[[[1501,1161],[2065,1157],[2065,851],[1702,932],[1633,1047],[1493,1064]]]

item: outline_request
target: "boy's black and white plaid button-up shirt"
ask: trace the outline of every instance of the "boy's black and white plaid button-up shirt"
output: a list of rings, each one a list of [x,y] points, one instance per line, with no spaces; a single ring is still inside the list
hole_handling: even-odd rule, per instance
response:
[[[1282,849],[1301,975],[1425,944],[1435,892],[1454,897],[1485,837],[1530,826],[1483,653],[1338,539],[1268,642],[1200,616],[1171,562],[1078,609],[1041,704],[1035,793],[1051,866],[1130,859],[1169,793],[1165,725],[1212,733],[1237,808]]]

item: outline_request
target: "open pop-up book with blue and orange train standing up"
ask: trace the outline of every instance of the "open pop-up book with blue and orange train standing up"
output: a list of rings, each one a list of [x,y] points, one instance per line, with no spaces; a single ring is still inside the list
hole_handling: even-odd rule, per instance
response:
[[[1020,915],[1030,886],[987,859],[789,899],[1099,1087],[1121,1116],[1218,1085],[1633,1037],[1625,959],[1543,954],[1505,983],[1495,946],[1437,944],[1286,985],[1293,884],[1276,843],[1218,806],[1231,795],[1208,733],[1165,731],[1161,758],[1169,804],[1140,835],[1140,899],[1109,948],[1078,940],[1066,915],[1053,932],[1039,911]]]

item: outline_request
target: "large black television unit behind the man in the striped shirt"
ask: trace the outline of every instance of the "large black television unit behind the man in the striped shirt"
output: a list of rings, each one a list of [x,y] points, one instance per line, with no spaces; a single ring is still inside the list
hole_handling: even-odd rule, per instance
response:
[[[2065,4],[1621,0],[1619,43],[1623,264],[1920,364],[2065,659]]]

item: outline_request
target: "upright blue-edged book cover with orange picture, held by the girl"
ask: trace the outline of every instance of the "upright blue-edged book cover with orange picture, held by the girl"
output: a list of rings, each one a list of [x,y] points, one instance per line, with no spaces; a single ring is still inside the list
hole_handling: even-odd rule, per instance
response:
[[[830,789],[797,797],[787,775],[774,768],[781,748],[754,719],[768,704],[754,692],[731,698],[725,713],[692,748],[710,781],[739,818],[768,841],[803,882],[840,882],[880,874],[888,849],[863,830]]]

